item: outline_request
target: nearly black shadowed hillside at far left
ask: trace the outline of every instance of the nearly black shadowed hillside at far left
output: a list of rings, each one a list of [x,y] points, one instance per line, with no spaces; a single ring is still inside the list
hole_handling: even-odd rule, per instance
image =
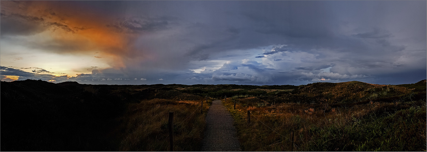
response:
[[[124,103],[108,89],[41,80],[1,82],[2,151],[111,150],[109,119]],[[105,149],[91,149],[105,147]]]

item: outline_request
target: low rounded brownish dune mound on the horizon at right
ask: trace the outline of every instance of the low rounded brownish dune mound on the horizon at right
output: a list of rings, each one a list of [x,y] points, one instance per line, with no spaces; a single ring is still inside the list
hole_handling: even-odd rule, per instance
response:
[[[425,85],[425,82],[424,82]],[[281,94],[285,102],[347,103],[369,102],[382,98],[400,98],[410,89],[398,85],[375,85],[365,82],[316,82],[301,85],[291,93]]]

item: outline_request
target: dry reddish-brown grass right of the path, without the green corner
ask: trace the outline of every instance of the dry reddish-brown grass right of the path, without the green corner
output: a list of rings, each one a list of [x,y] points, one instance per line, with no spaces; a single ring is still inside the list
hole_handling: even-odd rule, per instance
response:
[[[232,108],[234,100],[241,104],[237,104],[236,110]],[[343,147],[345,151],[363,149],[363,147],[359,147],[359,143],[351,143],[357,146],[340,145],[341,143],[345,144],[345,142],[349,142],[349,139],[358,137],[351,135],[351,132],[356,131],[348,131],[349,127],[358,129],[359,126],[357,125],[363,127],[363,125],[366,126],[369,124],[369,121],[377,121],[377,118],[372,118],[373,120],[368,121],[368,116],[371,117],[370,115],[383,114],[389,111],[387,109],[405,109],[411,106],[409,102],[372,102],[353,106],[343,105],[333,108],[331,107],[333,105],[295,103],[281,103],[266,107],[256,107],[244,101],[246,100],[227,99],[227,103],[225,103],[236,120],[243,151],[289,151],[289,135],[291,130],[295,132],[294,150],[297,151],[313,151],[313,147],[325,147],[325,145],[322,144],[316,146],[316,144],[319,144],[317,140],[319,140],[319,138],[323,139],[322,137],[326,137],[325,139],[327,140],[333,139],[336,134],[342,134],[342,137],[335,137],[336,139],[342,139],[338,141],[334,140],[338,143],[330,143],[330,141],[327,140],[321,143],[325,142],[324,144],[332,144],[332,146],[334,146],[333,148],[336,150],[342,150]],[[250,110],[252,114],[250,124],[247,123],[246,109]],[[313,134],[313,129],[320,129],[322,133]],[[335,129],[336,132],[328,131],[328,129]],[[333,150],[333,148],[320,148],[320,151]],[[318,150],[319,149],[315,151]]]

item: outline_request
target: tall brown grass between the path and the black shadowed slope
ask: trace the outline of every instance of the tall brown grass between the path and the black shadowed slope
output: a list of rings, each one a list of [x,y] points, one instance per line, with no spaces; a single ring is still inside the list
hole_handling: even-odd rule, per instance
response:
[[[205,102],[205,101],[204,101]],[[174,112],[174,151],[200,151],[205,114],[209,104],[201,101],[152,99],[130,104],[118,121],[122,140],[119,151],[169,151],[168,119]],[[208,103],[211,103],[209,100]]]

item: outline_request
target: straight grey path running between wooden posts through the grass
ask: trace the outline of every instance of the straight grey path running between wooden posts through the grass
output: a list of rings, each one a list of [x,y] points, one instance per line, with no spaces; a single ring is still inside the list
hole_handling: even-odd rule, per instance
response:
[[[212,101],[206,116],[202,151],[242,151],[233,122],[233,117],[222,105],[221,100]]]

